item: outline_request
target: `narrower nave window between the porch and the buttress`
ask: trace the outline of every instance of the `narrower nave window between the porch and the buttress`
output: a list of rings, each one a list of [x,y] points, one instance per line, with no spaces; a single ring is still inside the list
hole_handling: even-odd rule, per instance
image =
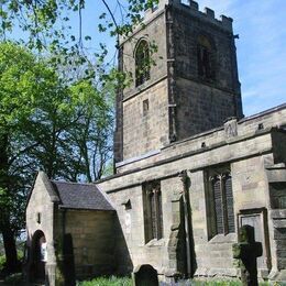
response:
[[[162,193],[160,182],[143,186],[145,242],[163,238]]]

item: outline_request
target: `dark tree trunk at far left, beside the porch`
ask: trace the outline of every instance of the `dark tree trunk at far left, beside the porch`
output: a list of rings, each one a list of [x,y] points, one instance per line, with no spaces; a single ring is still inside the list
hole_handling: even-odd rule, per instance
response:
[[[16,256],[15,237],[13,231],[8,227],[2,229],[4,251],[6,251],[6,272],[8,274],[20,271],[20,263]]]

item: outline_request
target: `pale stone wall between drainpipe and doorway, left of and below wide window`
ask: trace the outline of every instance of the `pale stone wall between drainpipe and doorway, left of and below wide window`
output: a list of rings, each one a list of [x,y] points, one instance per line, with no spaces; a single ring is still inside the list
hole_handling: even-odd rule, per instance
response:
[[[232,243],[237,241],[237,234],[218,234],[211,240],[208,239],[208,210],[206,206],[207,197],[204,172],[191,173],[190,179],[189,196],[196,255],[195,275],[235,276],[237,268],[233,265]],[[234,201],[237,201],[235,195]]]

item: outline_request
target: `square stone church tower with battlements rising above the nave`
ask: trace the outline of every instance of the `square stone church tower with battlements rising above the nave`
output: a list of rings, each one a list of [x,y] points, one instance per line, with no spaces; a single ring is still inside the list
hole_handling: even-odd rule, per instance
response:
[[[243,117],[234,37],[231,18],[195,1],[161,0],[145,12],[120,43],[133,81],[117,98],[118,166]]]

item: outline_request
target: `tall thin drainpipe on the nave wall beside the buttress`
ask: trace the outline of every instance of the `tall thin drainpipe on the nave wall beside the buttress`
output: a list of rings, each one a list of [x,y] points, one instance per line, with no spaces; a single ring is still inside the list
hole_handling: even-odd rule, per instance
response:
[[[186,233],[186,249],[187,249],[187,277],[191,276],[191,257],[190,257],[190,230],[189,230],[189,211],[188,211],[188,176],[187,170],[179,174],[183,183],[183,202],[184,202],[184,218],[185,218],[185,233]]]

